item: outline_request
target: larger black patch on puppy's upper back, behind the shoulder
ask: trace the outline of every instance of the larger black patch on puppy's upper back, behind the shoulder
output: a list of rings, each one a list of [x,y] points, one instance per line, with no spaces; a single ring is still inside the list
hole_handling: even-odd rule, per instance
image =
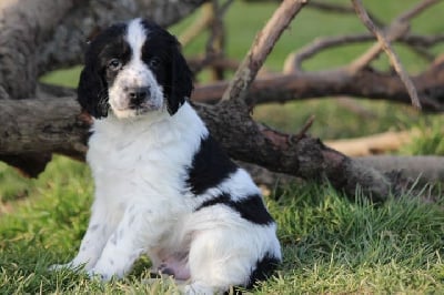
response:
[[[218,142],[208,135],[201,140],[200,149],[194,154],[186,184],[193,194],[199,195],[220,184],[236,170],[238,165],[223,152]]]

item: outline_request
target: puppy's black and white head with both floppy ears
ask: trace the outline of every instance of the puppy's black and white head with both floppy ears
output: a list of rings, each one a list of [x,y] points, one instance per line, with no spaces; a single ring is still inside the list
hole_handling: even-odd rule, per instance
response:
[[[192,79],[178,40],[159,26],[135,19],[102,31],[89,45],[78,99],[100,119],[163,111],[172,115],[190,98]]]

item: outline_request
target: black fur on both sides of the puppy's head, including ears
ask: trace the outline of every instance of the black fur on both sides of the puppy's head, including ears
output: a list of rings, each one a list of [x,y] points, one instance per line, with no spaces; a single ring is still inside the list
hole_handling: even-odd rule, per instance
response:
[[[147,30],[147,41],[142,48],[142,60],[150,67],[159,84],[164,89],[168,111],[173,115],[190,98],[193,90],[191,71],[181,54],[175,37],[150,21],[142,21]],[[109,111],[108,89],[118,72],[110,71],[108,64],[119,59],[123,67],[132,52],[124,37],[128,23],[109,27],[101,32],[87,49],[85,68],[80,74],[78,100],[82,109],[92,116],[105,118]]]

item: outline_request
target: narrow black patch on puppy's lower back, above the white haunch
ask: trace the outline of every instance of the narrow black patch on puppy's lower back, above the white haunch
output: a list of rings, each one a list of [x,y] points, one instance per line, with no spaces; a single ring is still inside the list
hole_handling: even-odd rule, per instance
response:
[[[221,194],[203,202],[195,211],[216,204],[223,204],[231,207],[238,212],[242,218],[248,220],[251,223],[268,225],[274,222],[259,194],[249,195],[239,201],[231,200],[229,194]]]

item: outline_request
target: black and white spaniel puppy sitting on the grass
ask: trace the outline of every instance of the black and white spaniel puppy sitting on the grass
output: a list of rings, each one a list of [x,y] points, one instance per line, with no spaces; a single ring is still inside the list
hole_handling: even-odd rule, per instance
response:
[[[260,190],[209,134],[192,88],[179,42],[152,22],[119,23],[91,42],[78,98],[93,118],[95,193],[65,266],[108,281],[147,254],[185,293],[212,294],[251,287],[281,262]]]

